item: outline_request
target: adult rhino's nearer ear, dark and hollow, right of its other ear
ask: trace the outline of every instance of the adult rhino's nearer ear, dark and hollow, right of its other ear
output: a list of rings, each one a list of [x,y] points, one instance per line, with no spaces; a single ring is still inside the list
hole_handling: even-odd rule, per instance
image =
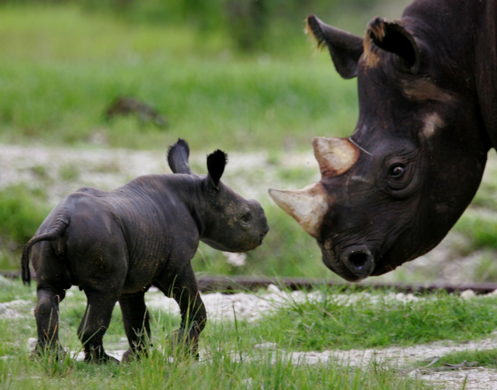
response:
[[[419,71],[419,48],[413,36],[398,22],[390,22],[382,17],[375,17],[368,24],[367,33],[373,43],[380,49],[394,53],[404,62],[398,67],[416,74]]]

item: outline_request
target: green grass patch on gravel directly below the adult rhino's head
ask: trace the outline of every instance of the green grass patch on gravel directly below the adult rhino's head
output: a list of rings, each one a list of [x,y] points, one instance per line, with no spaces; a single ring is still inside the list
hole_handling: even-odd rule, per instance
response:
[[[495,298],[464,301],[440,292],[400,302],[374,292],[348,294],[337,299],[325,291],[318,300],[295,302],[262,321],[260,335],[281,347],[323,350],[469,340],[497,328]]]

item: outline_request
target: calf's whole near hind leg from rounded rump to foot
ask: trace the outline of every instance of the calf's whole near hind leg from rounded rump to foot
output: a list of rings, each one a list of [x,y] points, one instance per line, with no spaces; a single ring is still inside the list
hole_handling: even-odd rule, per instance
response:
[[[112,213],[90,206],[95,207],[79,206],[66,231],[69,268],[87,299],[78,337],[85,361],[116,362],[104,352],[102,339],[126,279],[126,242]]]

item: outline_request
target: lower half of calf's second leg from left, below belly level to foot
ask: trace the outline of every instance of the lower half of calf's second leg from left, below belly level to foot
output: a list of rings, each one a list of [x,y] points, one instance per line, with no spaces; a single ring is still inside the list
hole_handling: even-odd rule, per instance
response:
[[[88,289],[84,292],[88,300],[78,336],[84,345],[84,360],[95,363],[117,362],[103,350],[102,339],[109,327],[112,309],[119,294],[112,289]]]

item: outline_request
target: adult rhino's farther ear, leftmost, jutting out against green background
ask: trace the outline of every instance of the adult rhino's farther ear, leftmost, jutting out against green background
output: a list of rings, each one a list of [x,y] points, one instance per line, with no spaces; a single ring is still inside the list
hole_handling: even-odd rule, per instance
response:
[[[318,42],[327,45],[336,72],[343,78],[357,76],[357,61],[363,51],[363,39],[357,35],[332,27],[315,15],[307,17],[306,31]]]

